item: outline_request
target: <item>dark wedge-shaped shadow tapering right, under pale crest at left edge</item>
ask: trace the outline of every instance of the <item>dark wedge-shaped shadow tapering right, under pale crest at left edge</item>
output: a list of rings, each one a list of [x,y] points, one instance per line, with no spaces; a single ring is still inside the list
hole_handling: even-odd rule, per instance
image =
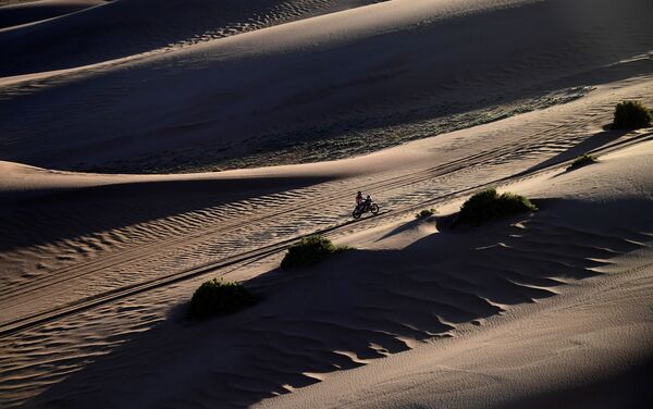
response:
[[[0,196],[0,251],[106,232],[194,210],[273,195],[326,182],[326,177],[267,177],[125,183],[45,193],[36,198]],[[12,196],[10,193],[5,196]],[[20,194],[16,194],[19,196]]]

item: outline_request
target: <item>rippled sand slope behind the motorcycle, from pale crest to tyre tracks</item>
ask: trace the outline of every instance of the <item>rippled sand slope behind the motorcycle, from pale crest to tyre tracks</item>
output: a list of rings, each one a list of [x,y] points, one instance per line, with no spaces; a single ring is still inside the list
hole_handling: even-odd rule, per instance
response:
[[[9,293],[33,280],[59,284],[52,287],[57,296],[30,303],[8,299],[2,306],[17,317],[48,310],[326,228],[348,218],[357,188],[397,210],[574,159],[637,137],[602,126],[615,100],[651,100],[651,84],[616,83],[566,106],[335,162],[187,175],[95,175],[4,164],[2,284]],[[126,270],[132,274],[123,274]],[[91,284],[98,272],[99,286]],[[71,277],[86,289],[63,290]]]

